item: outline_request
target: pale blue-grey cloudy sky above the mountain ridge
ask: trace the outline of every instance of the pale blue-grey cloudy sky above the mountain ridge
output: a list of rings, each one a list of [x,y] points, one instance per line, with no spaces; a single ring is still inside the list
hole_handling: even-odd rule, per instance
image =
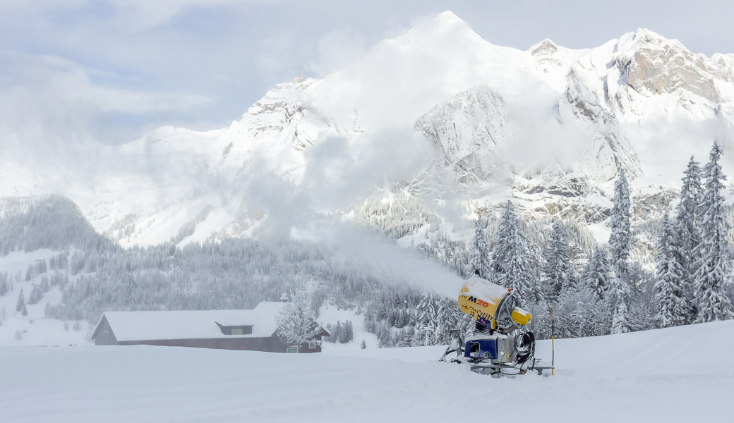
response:
[[[301,66],[321,78],[444,10],[523,50],[644,27],[707,56],[734,52],[732,1],[1,0],[1,147],[220,128]]]

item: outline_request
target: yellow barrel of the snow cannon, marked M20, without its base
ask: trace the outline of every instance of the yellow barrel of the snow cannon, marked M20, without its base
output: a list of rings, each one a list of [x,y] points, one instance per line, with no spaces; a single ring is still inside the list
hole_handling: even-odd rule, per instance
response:
[[[491,331],[509,334],[530,322],[512,290],[473,276],[459,291],[459,309]]]

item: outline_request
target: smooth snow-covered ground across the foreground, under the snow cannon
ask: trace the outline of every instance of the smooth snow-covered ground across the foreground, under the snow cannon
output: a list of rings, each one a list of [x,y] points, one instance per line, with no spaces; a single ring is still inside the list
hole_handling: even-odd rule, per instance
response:
[[[727,422],[734,321],[555,343],[556,372],[493,379],[443,347],[286,355],[1,347],[1,422]],[[551,343],[537,356],[551,358]]]

